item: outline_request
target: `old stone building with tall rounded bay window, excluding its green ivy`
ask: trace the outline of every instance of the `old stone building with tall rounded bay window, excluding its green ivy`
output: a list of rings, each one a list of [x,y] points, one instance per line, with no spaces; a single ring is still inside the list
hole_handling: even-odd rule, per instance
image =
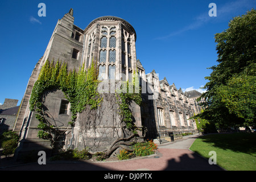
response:
[[[115,16],[96,18],[84,30],[74,24],[73,9],[59,19],[46,52],[35,65],[28,80],[14,127],[14,131],[21,137],[16,154],[31,150],[51,150],[49,141],[37,137],[38,120],[35,112],[29,109],[32,87],[47,59],[65,61],[68,69],[76,70],[82,64],[89,68],[94,61],[98,67],[98,80],[114,81],[115,84],[131,80],[134,72],[138,72],[142,86],[142,105],[131,103],[130,109],[137,127],[147,128],[147,138],[155,138],[159,132],[166,130],[195,130],[195,123],[188,120],[193,113],[197,113],[194,101],[181,89],[176,89],[175,84],[169,85],[166,78],[159,80],[154,70],[146,75],[141,61],[137,60],[136,38],[133,26]],[[71,127],[68,125],[71,118],[70,104],[63,92],[48,90],[44,106],[47,108],[49,121],[63,131],[55,136],[60,148],[81,149],[86,146],[93,151],[101,151],[120,135],[117,105],[113,104],[114,93],[106,93],[104,96],[96,113],[83,111],[79,114],[75,127]],[[95,115],[101,115],[94,118],[97,127],[86,128],[83,121]]]

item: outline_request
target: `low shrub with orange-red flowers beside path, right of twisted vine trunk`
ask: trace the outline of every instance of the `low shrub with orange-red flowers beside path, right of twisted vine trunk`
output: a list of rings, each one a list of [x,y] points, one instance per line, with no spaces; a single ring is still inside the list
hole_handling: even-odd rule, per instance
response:
[[[152,140],[141,142],[141,143],[135,143],[133,153],[136,156],[151,155],[151,154],[155,154],[155,150],[157,147],[158,147],[157,144],[155,144]]]

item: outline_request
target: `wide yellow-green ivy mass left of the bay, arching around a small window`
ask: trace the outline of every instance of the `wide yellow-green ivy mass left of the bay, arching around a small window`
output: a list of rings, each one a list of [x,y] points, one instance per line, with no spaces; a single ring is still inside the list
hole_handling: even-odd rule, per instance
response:
[[[63,91],[65,98],[71,103],[72,117],[69,124],[75,125],[77,113],[90,105],[91,109],[96,109],[102,101],[100,94],[97,92],[98,72],[94,64],[87,70],[85,65],[79,72],[68,72],[67,63],[61,64],[59,61],[51,63],[46,60],[43,65],[39,78],[35,82],[30,97],[30,110],[36,111],[35,117],[39,120],[38,137],[49,139],[53,143],[52,133],[56,132],[56,126],[49,123],[44,117],[43,94],[46,90],[60,89]]]

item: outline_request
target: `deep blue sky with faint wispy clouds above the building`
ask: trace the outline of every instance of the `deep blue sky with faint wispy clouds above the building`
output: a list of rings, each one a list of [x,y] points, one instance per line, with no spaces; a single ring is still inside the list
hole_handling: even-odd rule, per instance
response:
[[[45,17],[38,16],[40,2],[46,4]],[[208,15],[209,3],[216,3],[216,17]],[[178,89],[200,90],[211,72],[207,68],[217,64],[214,34],[227,29],[230,19],[255,5],[256,0],[1,0],[0,103],[5,98],[20,103],[57,20],[71,7],[75,24],[82,29],[99,16],[127,20],[137,32],[137,59],[146,73],[155,69],[160,80],[166,77]]]

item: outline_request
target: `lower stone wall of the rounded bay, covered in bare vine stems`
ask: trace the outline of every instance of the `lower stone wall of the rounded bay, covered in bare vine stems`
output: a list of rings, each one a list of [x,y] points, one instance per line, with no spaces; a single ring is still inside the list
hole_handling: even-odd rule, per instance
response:
[[[86,109],[79,114],[75,126],[75,148],[89,147],[91,151],[103,151],[109,148],[115,139],[128,137],[131,133],[122,132],[119,105],[113,93],[101,94],[103,100],[97,110]],[[140,107],[131,102],[134,123],[141,127]],[[141,134],[141,133],[139,133]]]

